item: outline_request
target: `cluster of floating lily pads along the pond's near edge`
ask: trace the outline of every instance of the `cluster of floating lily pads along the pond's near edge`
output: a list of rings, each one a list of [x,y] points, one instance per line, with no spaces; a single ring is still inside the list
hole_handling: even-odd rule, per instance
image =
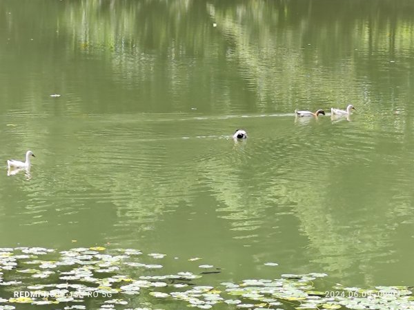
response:
[[[91,300],[101,310],[159,309],[154,304],[168,309],[169,302],[182,302],[198,309],[216,305],[220,309],[255,310],[414,309],[408,287],[366,290],[335,285],[328,291],[317,291],[314,282],[325,277],[324,273],[197,285],[201,275],[213,265],[199,265],[204,270],[199,273],[162,274],[163,266],[153,260],[164,257],[165,254],[145,256],[136,249],[104,247],[79,247],[59,253],[40,247],[3,248],[0,249],[0,310],[18,309],[18,304],[61,304],[63,309],[89,309]],[[145,263],[146,258],[152,263]],[[199,259],[188,261],[191,264]],[[277,263],[265,265],[277,266]],[[145,307],[137,300],[144,300]]]

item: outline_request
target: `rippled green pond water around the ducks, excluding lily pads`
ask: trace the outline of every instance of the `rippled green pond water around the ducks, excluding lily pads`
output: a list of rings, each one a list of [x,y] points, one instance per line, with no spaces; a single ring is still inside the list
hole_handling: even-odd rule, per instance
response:
[[[0,247],[137,249],[221,290],[413,286],[413,1],[3,0],[0,42]]]

